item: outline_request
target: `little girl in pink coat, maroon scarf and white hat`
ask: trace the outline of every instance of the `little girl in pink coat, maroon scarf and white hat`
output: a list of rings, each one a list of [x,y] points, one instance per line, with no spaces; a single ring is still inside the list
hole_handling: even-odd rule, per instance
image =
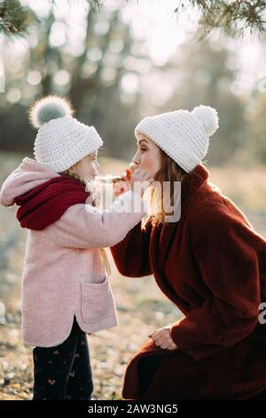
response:
[[[72,113],[55,96],[35,103],[29,112],[39,128],[35,159],[25,157],[0,191],[0,204],[20,206],[17,218],[28,229],[22,338],[35,346],[33,399],[90,399],[86,334],[118,323],[103,247],[117,244],[142,219],[141,197],[153,181],[136,170],[130,190],[100,212],[93,180],[103,141]],[[142,190],[134,188],[137,182]]]

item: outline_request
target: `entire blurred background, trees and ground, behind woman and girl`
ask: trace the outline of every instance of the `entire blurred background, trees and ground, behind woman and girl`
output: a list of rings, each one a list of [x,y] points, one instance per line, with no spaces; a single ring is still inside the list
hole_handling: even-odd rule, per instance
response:
[[[181,2],[106,0],[98,9],[88,2],[20,0],[27,35],[0,32],[0,183],[23,157],[33,157],[27,109],[41,95],[66,95],[75,116],[97,127],[105,141],[102,173],[113,174],[134,156],[142,117],[207,104],[220,117],[205,158],[210,179],[265,237],[265,33],[247,28],[230,36],[213,28],[199,36],[200,10],[187,3],[174,12]],[[27,231],[15,211],[0,208],[0,399],[31,398],[31,349],[20,337]],[[97,399],[121,398],[129,358],[153,329],[180,316],[153,277],[130,279],[113,263],[112,269],[120,325],[89,337]]]

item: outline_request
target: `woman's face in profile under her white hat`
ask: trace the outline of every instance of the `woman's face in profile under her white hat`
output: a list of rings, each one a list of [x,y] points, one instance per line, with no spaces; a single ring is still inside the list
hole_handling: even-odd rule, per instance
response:
[[[144,133],[139,133],[137,154],[132,161],[137,165],[137,168],[145,170],[154,178],[160,170],[160,148]]]

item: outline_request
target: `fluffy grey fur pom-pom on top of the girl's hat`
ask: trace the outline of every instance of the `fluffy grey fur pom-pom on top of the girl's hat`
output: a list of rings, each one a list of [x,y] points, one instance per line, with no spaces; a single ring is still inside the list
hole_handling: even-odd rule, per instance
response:
[[[59,117],[71,117],[74,110],[66,99],[59,96],[47,96],[43,99],[35,101],[29,109],[28,115],[31,125],[39,129],[52,119]]]

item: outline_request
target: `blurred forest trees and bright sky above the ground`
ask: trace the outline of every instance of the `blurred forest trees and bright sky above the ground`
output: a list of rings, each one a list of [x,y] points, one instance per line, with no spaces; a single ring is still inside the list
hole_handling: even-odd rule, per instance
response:
[[[142,117],[203,103],[220,116],[210,165],[266,163],[265,33],[232,38],[214,29],[199,40],[199,10],[175,13],[179,1],[103,3],[20,1],[27,35],[0,37],[0,149],[31,152],[27,108],[55,92],[97,126],[110,157],[129,159]]]

